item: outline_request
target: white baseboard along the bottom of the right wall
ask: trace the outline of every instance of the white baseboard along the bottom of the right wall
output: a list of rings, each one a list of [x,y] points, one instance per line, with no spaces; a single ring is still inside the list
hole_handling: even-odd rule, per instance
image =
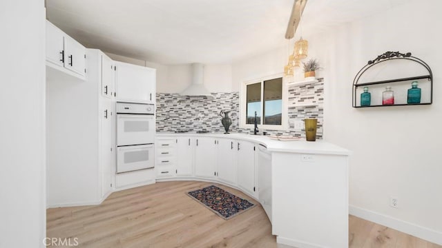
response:
[[[385,227],[402,231],[405,234],[410,234],[412,236],[422,238],[423,240],[442,245],[442,232],[440,231],[434,231],[432,229],[428,229],[427,227],[407,223],[406,221],[399,220],[391,216],[386,216],[384,214],[379,214],[375,211],[362,209],[353,205],[349,205],[349,214],[378,223],[380,225],[384,225]]]

